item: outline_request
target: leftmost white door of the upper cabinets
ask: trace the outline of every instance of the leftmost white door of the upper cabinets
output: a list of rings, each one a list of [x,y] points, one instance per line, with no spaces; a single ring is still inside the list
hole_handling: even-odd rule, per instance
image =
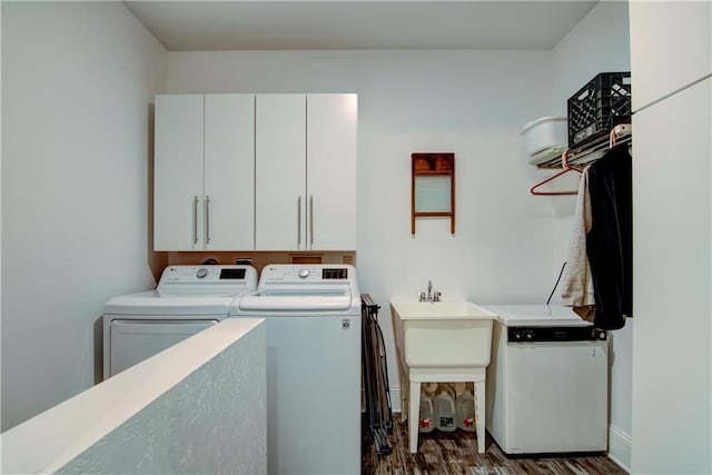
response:
[[[156,97],[154,249],[200,247],[202,96]]]

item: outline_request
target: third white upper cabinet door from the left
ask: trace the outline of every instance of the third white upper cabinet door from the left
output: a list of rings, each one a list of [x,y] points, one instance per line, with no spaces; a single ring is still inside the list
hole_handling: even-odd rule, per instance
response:
[[[306,97],[257,95],[255,245],[258,250],[306,244]]]

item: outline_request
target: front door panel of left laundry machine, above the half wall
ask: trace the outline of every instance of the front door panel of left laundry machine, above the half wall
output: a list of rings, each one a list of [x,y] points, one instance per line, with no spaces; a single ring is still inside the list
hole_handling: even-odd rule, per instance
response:
[[[219,320],[113,320],[110,328],[110,374],[151,357]],[[105,377],[106,377],[105,376]]]

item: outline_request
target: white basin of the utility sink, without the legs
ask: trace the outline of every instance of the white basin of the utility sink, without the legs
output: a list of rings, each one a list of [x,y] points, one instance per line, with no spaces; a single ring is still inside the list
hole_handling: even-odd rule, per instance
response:
[[[404,369],[474,368],[490,364],[496,314],[471,301],[392,300],[396,349]]]

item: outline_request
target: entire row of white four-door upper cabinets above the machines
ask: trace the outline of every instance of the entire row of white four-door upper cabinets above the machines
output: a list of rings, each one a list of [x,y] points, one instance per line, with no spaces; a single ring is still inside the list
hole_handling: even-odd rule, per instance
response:
[[[156,250],[356,249],[357,96],[156,97]]]

